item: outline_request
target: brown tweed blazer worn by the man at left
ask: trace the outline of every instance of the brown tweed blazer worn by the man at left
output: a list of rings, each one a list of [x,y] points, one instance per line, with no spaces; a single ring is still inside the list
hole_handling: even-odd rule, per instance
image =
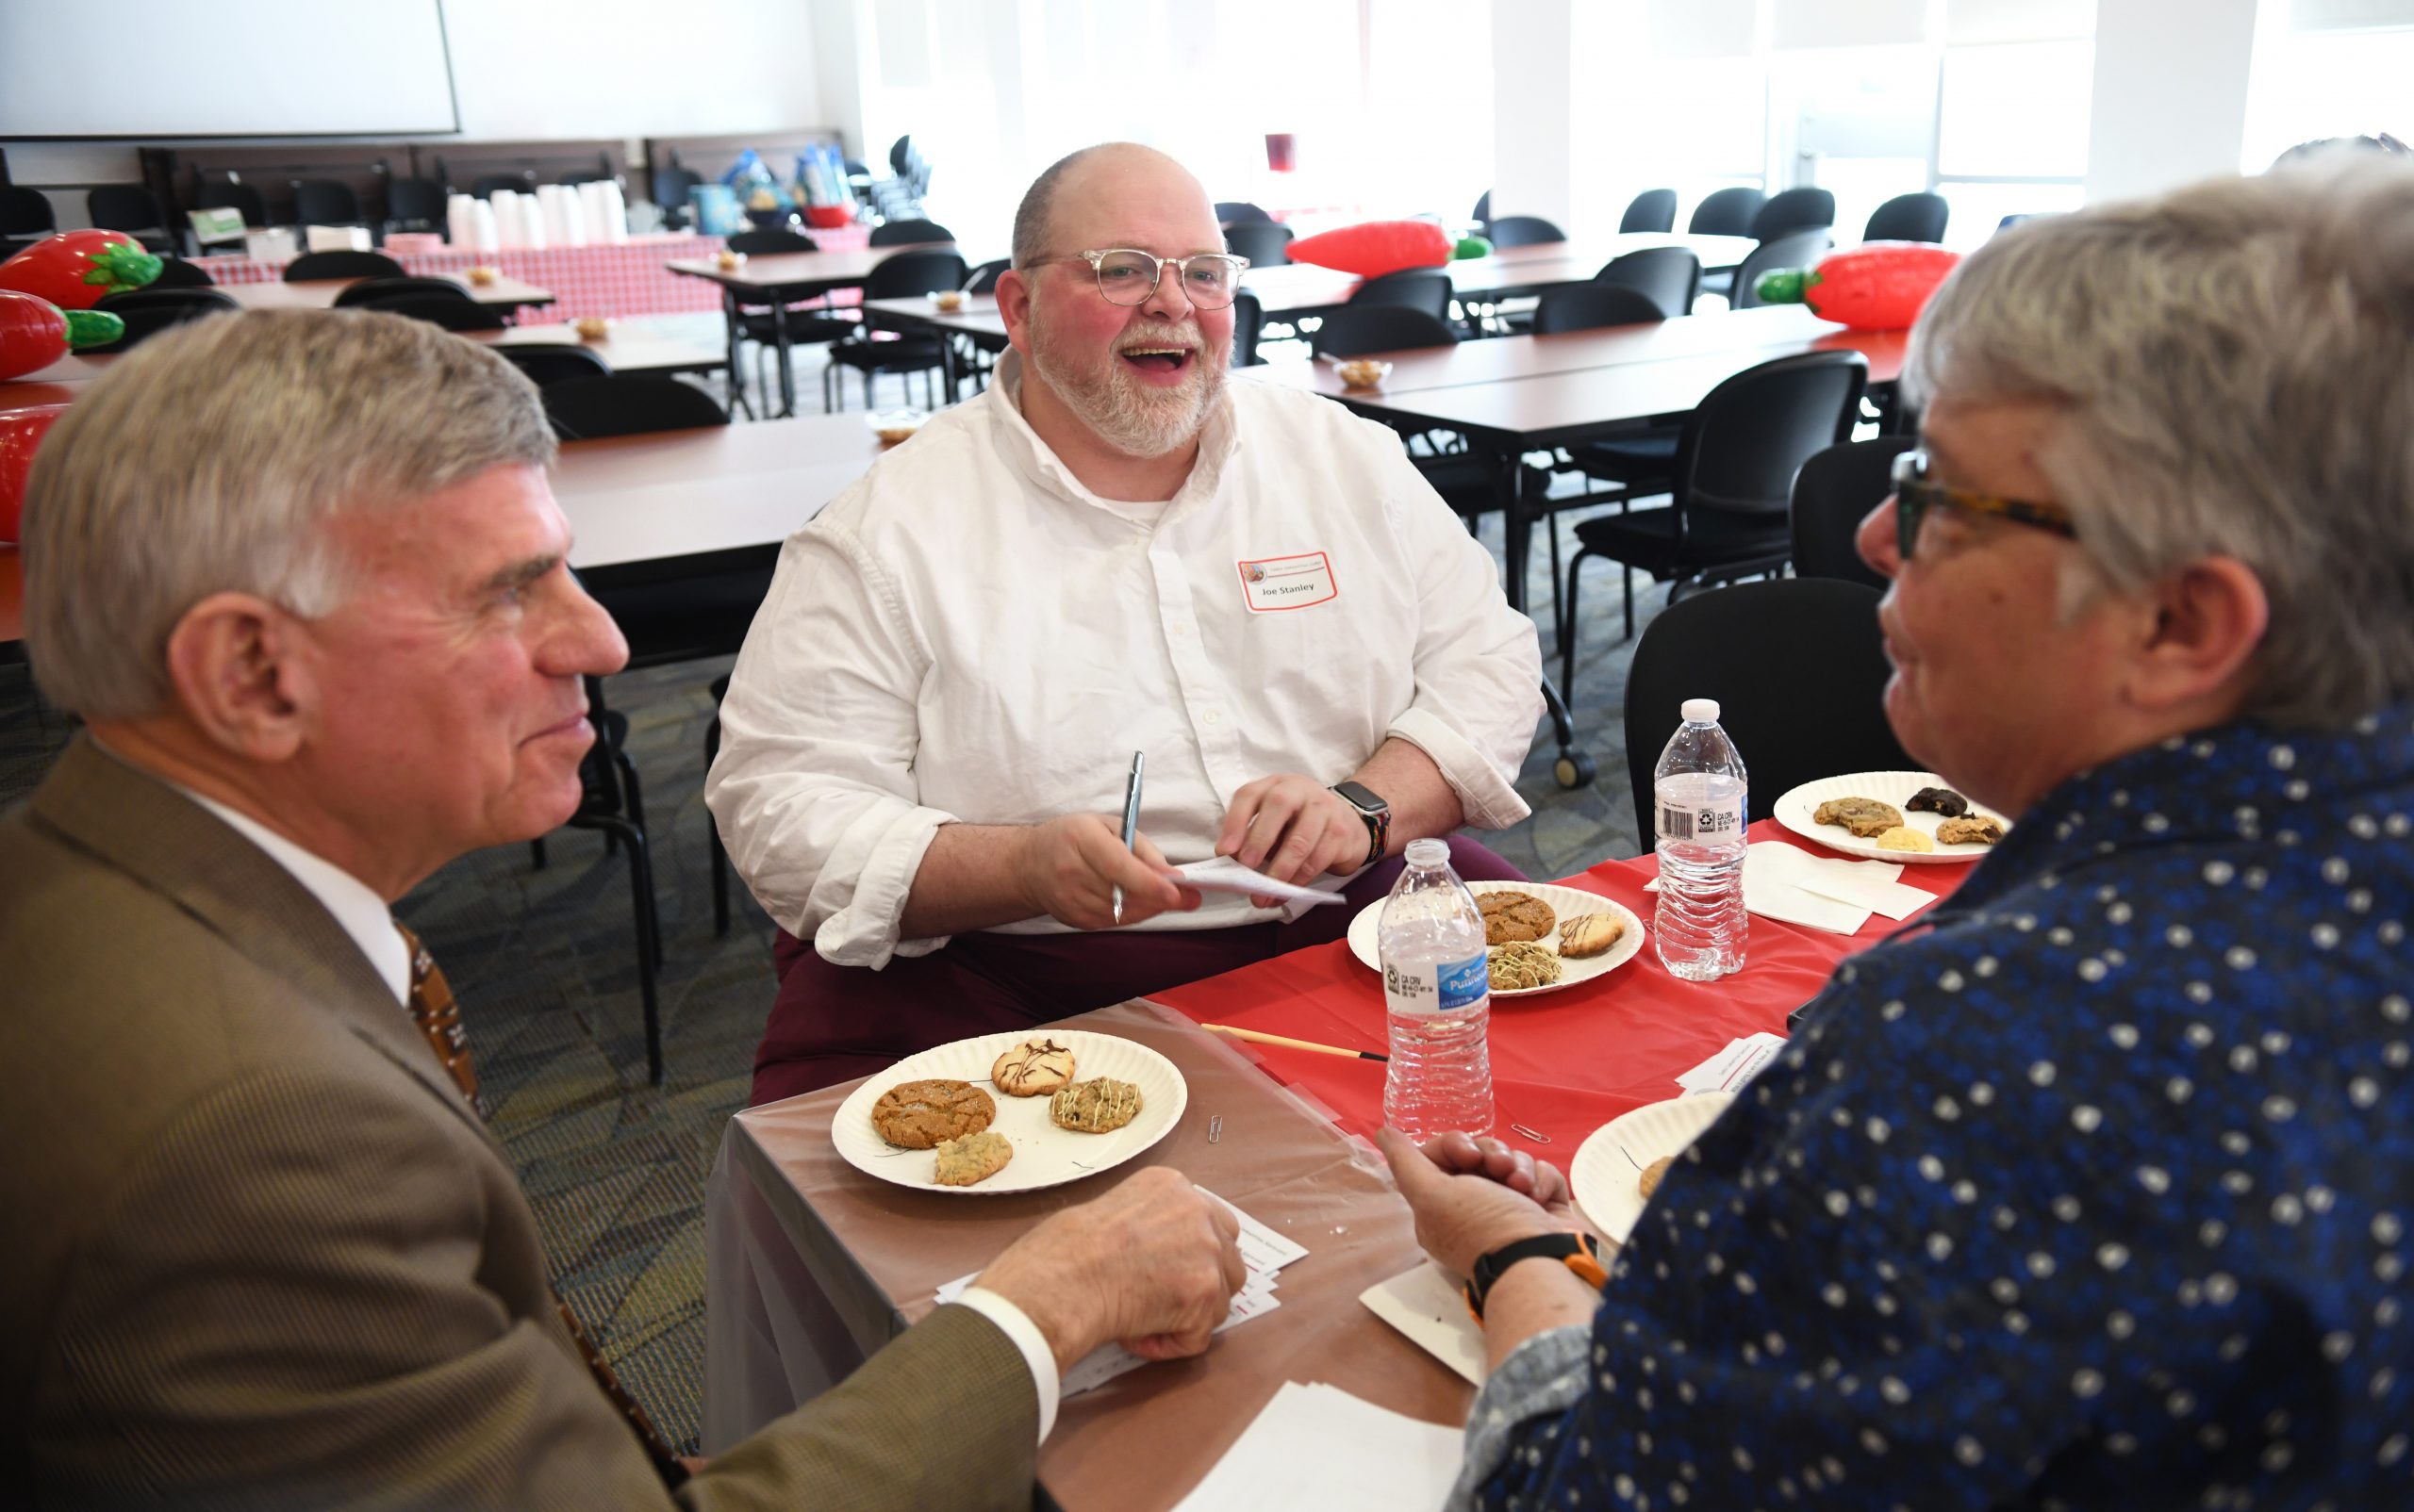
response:
[[[669,1507],[512,1165],[343,926],[77,740],[0,817],[0,1502]],[[1028,1507],[1031,1372],[941,1307],[690,1507]]]

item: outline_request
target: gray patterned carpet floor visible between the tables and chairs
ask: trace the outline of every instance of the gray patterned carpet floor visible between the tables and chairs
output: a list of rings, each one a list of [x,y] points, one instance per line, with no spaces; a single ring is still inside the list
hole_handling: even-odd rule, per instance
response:
[[[806,367],[799,388],[818,395],[818,369]],[[1557,516],[1559,531],[1574,518]],[[1497,516],[1485,540],[1499,555]],[[1615,576],[1605,564],[1588,574],[1572,697],[1598,781],[1557,786],[1545,721],[1518,779],[1533,815],[1485,837],[1533,878],[1642,849],[1617,731],[1632,644],[1620,644]],[[1543,540],[1528,588],[1547,620]],[[1639,615],[1663,598],[1666,588],[1642,593]],[[1543,651],[1557,651],[1547,625]],[[611,707],[630,719],[661,907],[661,1088],[645,1080],[630,871],[601,837],[553,834],[543,868],[529,846],[463,856],[396,907],[454,981],[495,1131],[519,1165],[562,1293],[664,1430],[690,1444],[702,1406],[702,1184],[722,1124],[744,1104],[772,996],[772,926],[741,885],[731,931],[712,931],[702,740],[707,687],[722,670],[686,663],[608,685]],[[0,666],[0,803],[31,791],[68,736],[70,723],[34,697],[27,668]]]

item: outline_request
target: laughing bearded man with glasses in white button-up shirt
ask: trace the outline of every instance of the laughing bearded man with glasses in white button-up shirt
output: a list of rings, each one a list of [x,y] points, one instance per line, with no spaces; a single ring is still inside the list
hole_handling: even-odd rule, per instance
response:
[[[1202,897],[1168,861],[1349,878],[1357,904],[1410,839],[1526,817],[1533,622],[1393,432],[1226,383],[1234,282],[1180,164],[1055,164],[997,285],[997,381],[789,538],[707,781],[785,931],[758,1102],[1354,912]],[[1123,933],[1086,933],[1115,890]]]

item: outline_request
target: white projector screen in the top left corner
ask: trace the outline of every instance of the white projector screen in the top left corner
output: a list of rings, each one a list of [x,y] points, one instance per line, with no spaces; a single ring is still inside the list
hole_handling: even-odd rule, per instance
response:
[[[0,137],[323,137],[461,130],[442,0],[0,5]]]

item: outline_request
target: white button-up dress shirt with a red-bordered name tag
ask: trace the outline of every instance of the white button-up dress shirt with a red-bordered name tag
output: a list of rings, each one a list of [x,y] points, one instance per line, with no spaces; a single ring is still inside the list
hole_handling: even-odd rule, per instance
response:
[[[900,938],[932,834],[1123,813],[1176,866],[1234,793],[1342,781],[1410,740],[1470,825],[1526,817],[1543,711],[1533,620],[1400,439],[1231,381],[1164,504],[1081,487],[1019,408],[1019,354],[787,540],[722,702],[705,784],[756,899],[838,965]],[[1209,895],[1137,928],[1282,916]],[[1002,926],[1065,931],[1053,919]]]

